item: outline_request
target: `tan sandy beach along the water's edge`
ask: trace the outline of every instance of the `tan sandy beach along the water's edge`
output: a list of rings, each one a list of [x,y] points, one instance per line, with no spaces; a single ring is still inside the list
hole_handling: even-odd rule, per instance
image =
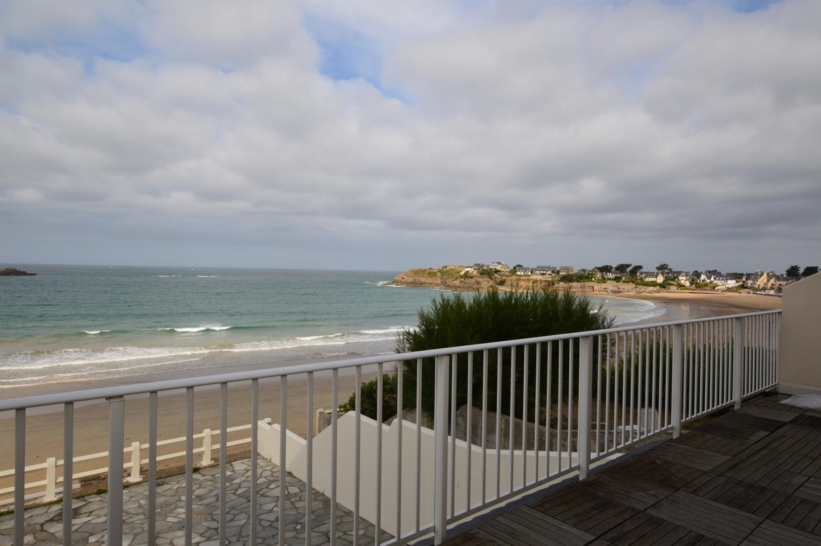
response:
[[[616,296],[616,295],[611,295]],[[697,319],[706,316],[739,314],[755,310],[774,310],[781,308],[781,298],[773,296],[759,296],[737,293],[706,293],[694,291],[626,291],[618,296],[626,296],[640,300],[653,301],[665,305],[667,311],[654,318],[654,322],[668,322],[681,319]],[[388,356],[386,356],[388,358]],[[305,364],[316,360],[296,360],[290,364]],[[286,363],[282,363],[286,364]],[[231,368],[239,369],[264,368],[268,365],[255,365]],[[390,366],[386,365],[386,371]],[[209,370],[210,372],[211,370]],[[215,369],[213,373],[220,370]],[[225,371],[225,370],[222,370]],[[184,373],[174,376],[184,376]],[[364,370],[363,379],[372,379],[375,367]],[[131,382],[145,382],[156,379],[170,379],[168,374],[162,377],[151,375],[131,379]],[[54,385],[31,388],[9,388],[2,392],[2,397],[21,397],[44,392],[58,392],[97,388],[112,384],[122,384],[122,380],[98,380],[72,383],[58,383]],[[343,369],[339,377],[339,401],[346,401],[354,390],[354,370]],[[287,428],[305,436],[307,419],[314,419],[316,409],[331,407],[331,374],[323,372],[314,374],[314,402],[311,408],[306,402],[305,375],[291,377],[288,380],[287,394]],[[279,379],[263,379],[259,382],[259,418],[270,417],[273,422],[279,422]],[[108,449],[108,407],[105,401],[94,401],[78,404],[75,409],[75,456]],[[195,434],[205,428],[218,430],[220,398],[218,386],[195,389],[194,429]],[[177,438],[186,434],[186,396],[184,391],[160,393],[158,404],[158,440]],[[11,411],[0,413],[0,438],[14,438],[14,420]],[[29,412],[26,420],[26,465],[44,462],[47,457],[62,458],[62,408],[39,408]],[[236,383],[228,388],[228,426],[250,423],[250,382]],[[133,441],[147,442],[148,434],[148,397],[139,395],[126,398],[126,438],[124,447],[130,446]],[[236,438],[247,438],[248,430],[229,434],[229,441]],[[201,440],[195,440],[195,447],[200,447]],[[248,445],[236,446],[229,452],[239,452],[248,449]],[[4,442],[0,444],[0,470],[10,469],[13,466],[14,444]],[[185,443],[174,443],[161,447],[159,453],[180,452],[185,449]],[[218,438],[214,438],[214,456],[218,455]],[[143,453],[143,457],[146,454]],[[126,461],[130,457],[126,455]],[[201,456],[195,454],[195,461]],[[168,461],[164,466],[174,466],[181,463],[180,459]],[[95,467],[105,466],[103,459],[76,464],[76,472]],[[61,470],[57,470],[60,475]],[[35,473],[30,474],[26,481],[38,478]],[[8,482],[8,483],[7,483]],[[10,479],[0,480],[0,488],[11,484]]]

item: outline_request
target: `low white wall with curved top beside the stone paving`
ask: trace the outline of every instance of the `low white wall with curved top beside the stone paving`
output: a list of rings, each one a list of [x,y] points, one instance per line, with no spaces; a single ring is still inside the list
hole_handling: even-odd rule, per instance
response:
[[[355,425],[353,412],[340,416],[337,422],[337,502],[351,511],[355,502]],[[394,534],[397,530],[397,497],[401,496],[401,533],[404,535],[415,530],[416,524],[416,425],[402,421],[402,474],[401,495],[397,494],[397,439],[400,424],[382,425],[382,521],[383,530]],[[285,468],[299,479],[305,479],[306,446],[305,439],[287,432]],[[313,485],[326,495],[331,491],[331,434],[332,429],[324,429],[314,438],[314,475]],[[376,436],[377,423],[368,417],[362,417],[361,450],[360,450],[360,515],[368,521],[376,519]],[[420,526],[433,522],[433,450],[435,438],[433,430],[421,429],[420,460]],[[279,465],[279,425],[259,423],[259,453]],[[470,503],[481,501],[482,448],[470,446],[462,440],[456,440],[456,512],[466,507],[467,493],[467,457],[470,453]],[[576,463],[576,453],[571,454],[571,462]],[[533,480],[533,465],[537,455],[527,452],[527,480]],[[544,466],[548,457],[545,452],[538,453],[539,475],[544,475]],[[550,470],[557,468],[557,453],[550,452]],[[502,450],[499,457],[501,469],[499,479],[500,494],[510,490],[510,451]],[[522,484],[521,450],[514,450],[513,485],[514,489]],[[566,456],[562,460],[566,466]],[[448,468],[448,476],[452,475]],[[486,478],[486,496],[496,496],[496,450],[488,449]],[[448,478],[450,479],[450,478]]]

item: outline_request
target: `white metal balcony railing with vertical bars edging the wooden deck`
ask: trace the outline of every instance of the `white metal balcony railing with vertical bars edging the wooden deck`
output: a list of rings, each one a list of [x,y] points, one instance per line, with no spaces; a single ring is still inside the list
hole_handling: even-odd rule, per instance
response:
[[[251,423],[259,416],[259,380],[278,378],[279,383],[279,466],[278,480],[286,483],[287,461],[287,397],[288,379],[302,376],[306,380],[308,419],[305,429],[307,470],[305,484],[313,485],[313,422],[314,374],[330,372],[332,381],[332,443],[330,466],[329,527],[331,544],[337,542],[337,452],[352,450],[354,456],[353,541],[357,544],[362,516],[362,495],[373,495],[375,544],[405,544],[421,536],[433,534],[437,543],[444,541],[448,525],[506,502],[530,489],[572,472],[585,479],[592,462],[608,457],[626,447],[672,432],[678,436],[681,424],[728,406],[740,406],[744,397],[753,396],[777,385],[778,328],[780,311],[739,314],[730,317],[695,319],[672,323],[609,328],[592,332],[567,333],[545,337],[484,343],[473,346],[447,347],[433,351],[418,351],[392,356],[321,362],[274,369],[252,370],[209,377],[172,379],[156,383],[124,385],[77,392],[49,394],[0,401],[0,411],[15,411],[15,544],[23,544],[25,524],[25,420],[26,410],[37,406],[62,404],[64,407],[65,483],[76,478],[72,474],[73,429],[75,402],[105,398],[108,401],[108,544],[121,544],[122,536],[122,449],[124,438],[124,397],[149,393],[149,440],[140,444],[148,449],[148,503],[145,532],[148,544],[155,544],[156,466],[158,392],[186,389],[186,450],[175,453],[186,457],[185,542],[191,544],[193,529],[194,397],[195,388],[220,385],[220,471],[219,471],[219,544],[225,544],[226,523],[226,450],[227,386],[250,381]],[[403,419],[403,408],[414,407],[403,397],[415,398],[415,446],[403,447],[402,434],[397,434],[395,461],[383,460],[383,388],[384,365],[397,362],[397,420]],[[376,441],[363,445],[362,372],[375,366]],[[355,371],[355,434],[354,438],[337,436],[337,402],[339,372]],[[481,369],[479,372],[478,370]],[[415,389],[404,388],[415,382]],[[543,390],[544,389],[544,390]],[[415,396],[414,396],[415,395]],[[466,457],[456,459],[458,432],[456,413],[461,403],[468,408],[479,401],[481,410],[480,457],[473,457],[471,447]],[[494,400],[495,399],[495,400]],[[429,453],[421,450],[421,418],[423,410],[433,406],[433,494],[423,496],[422,461]],[[489,422],[495,413],[495,423]],[[502,414],[507,414],[504,417]],[[474,438],[471,412],[466,412],[468,445]],[[387,415],[391,417],[392,415]],[[507,420],[507,436],[501,438],[502,425]],[[516,427],[516,429],[514,429]],[[521,429],[520,429],[521,427]],[[257,502],[258,429],[251,426],[250,458],[250,544],[256,544],[259,525]],[[529,431],[533,430],[533,441]],[[521,438],[516,439],[516,433]],[[495,434],[493,434],[495,433]],[[491,438],[492,437],[492,438]],[[175,441],[179,438],[175,438]],[[167,442],[167,441],[164,441]],[[345,442],[343,445],[341,443]],[[350,443],[353,443],[351,446]],[[507,444],[505,447],[502,444]],[[479,446],[477,446],[478,449]],[[376,453],[374,466],[363,469],[363,450]],[[507,455],[502,466],[502,454]],[[97,454],[95,454],[97,455]],[[404,457],[403,457],[404,456]],[[88,457],[88,456],[86,456]],[[163,456],[164,457],[164,456]],[[410,461],[408,460],[410,458]],[[476,458],[476,461],[474,461]],[[529,463],[529,461],[532,461]],[[133,465],[133,463],[132,463]],[[383,466],[395,465],[396,484],[383,484]],[[493,469],[495,466],[495,469]],[[38,466],[39,467],[39,466]],[[30,468],[30,467],[29,467]],[[360,488],[362,472],[374,478],[370,491]],[[415,473],[415,491],[401,489],[402,470]],[[504,470],[504,471],[502,471]],[[479,479],[475,479],[476,475]],[[426,476],[425,476],[426,477]],[[458,480],[458,481],[457,481]],[[471,491],[476,482],[479,492]],[[392,493],[396,503],[393,529],[382,527],[383,489]],[[287,521],[287,488],[280,487],[279,522]],[[463,498],[459,498],[464,495]],[[412,530],[402,532],[402,504],[411,502],[415,521]],[[433,506],[433,521],[420,518],[420,510]],[[63,543],[71,544],[71,497],[62,502]],[[318,521],[312,512],[312,502],[305,502],[305,544],[311,544],[311,530],[327,521]],[[278,525],[278,524],[277,524]],[[280,529],[281,530],[281,529]],[[392,534],[383,541],[382,531]],[[279,544],[285,544],[285,533],[279,532]]]

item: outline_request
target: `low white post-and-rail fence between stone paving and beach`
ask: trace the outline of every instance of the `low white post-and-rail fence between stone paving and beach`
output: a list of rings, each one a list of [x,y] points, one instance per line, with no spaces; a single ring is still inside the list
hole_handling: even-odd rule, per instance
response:
[[[265,418],[265,421],[270,423],[271,418]],[[230,427],[227,429],[228,433],[237,432],[240,430],[247,430],[251,428],[251,424],[241,424],[236,427]],[[202,445],[200,447],[196,447],[194,449],[195,453],[202,453],[202,462],[203,466],[208,466],[213,463],[212,461],[212,451],[213,451],[213,437],[221,434],[222,431],[220,430],[211,430],[211,429],[203,429],[200,434],[195,434],[194,439],[202,438]],[[185,442],[186,437],[180,436],[179,438],[168,438],[167,440],[160,440],[156,443],[157,447],[160,446],[167,446],[173,443],[181,443]],[[236,440],[231,440],[227,443],[227,447],[239,446],[245,443],[250,443],[251,438],[238,438]],[[123,470],[130,470],[130,474],[126,481],[135,483],[139,482],[140,479],[140,466],[148,464],[148,458],[142,458],[141,453],[144,450],[149,448],[148,443],[140,443],[140,442],[132,442],[131,446],[124,447],[122,452],[123,455],[129,454],[131,456],[130,461],[123,462]],[[170,459],[177,459],[180,457],[185,457],[186,452],[172,452],[172,453],[165,453],[156,457],[156,461],[168,461]],[[108,452],[98,452],[98,453],[89,453],[88,455],[81,455],[80,457],[73,457],[71,462],[76,464],[78,462],[85,462],[85,461],[94,461],[95,459],[108,459]],[[57,484],[61,484],[63,481],[63,477],[57,475],[57,468],[60,466],[65,466],[65,461],[63,459],[57,459],[57,457],[48,457],[45,462],[41,462],[37,465],[29,465],[25,466],[24,472],[25,474],[29,474],[32,472],[36,472],[38,470],[45,470],[46,471],[46,478],[39,479],[37,481],[30,481],[25,482],[24,487],[25,489],[42,489],[35,493],[28,493],[25,495],[26,500],[30,500],[33,498],[40,498],[43,497],[44,501],[53,501],[57,498],[57,493],[62,493],[62,489],[57,487]],[[71,479],[81,479],[88,476],[99,475],[103,472],[108,471],[108,466],[102,466],[99,468],[94,468],[91,470],[84,470],[83,472],[76,472],[71,475]],[[10,470],[2,470],[0,471],[0,478],[5,478],[7,476],[11,476],[15,474],[15,469]],[[76,489],[79,485],[74,485],[73,489]],[[6,487],[0,489],[0,496],[6,495],[7,493],[13,493],[14,486]],[[13,498],[7,499],[0,499],[0,505],[7,504],[8,502],[12,502]]]

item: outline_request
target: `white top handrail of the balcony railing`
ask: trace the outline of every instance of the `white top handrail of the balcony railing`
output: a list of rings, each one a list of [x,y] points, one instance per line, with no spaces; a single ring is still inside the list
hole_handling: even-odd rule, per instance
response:
[[[703,319],[677,320],[667,323],[634,324],[632,326],[621,326],[618,328],[606,328],[602,330],[589,330],[587,332],[559,333],[552,336],[527,337],[525,339],[511,339],[504,342],[477,343],[475,345],[463,345],[456,347],[444,347],[442,349],[431,349],[429,351],[415,351],[407,353],[397,353],[390,355],[365,356],[348,360],[331,360],[314,362],[312,364],[300,364],[282,366],[279,368],[253,369],[241,372],[230,372],[227,374],[205,375],[193,378],[164,379],[149,383],[134,383],[131,385],[121,385],[117,387],[89,388],[80,391],[54,392],[50,394],[35,395],[30,397],[9,398],[0,400],[0,411],[21,410],[30,407],[53,406],[57,404],[67,404],[70,402],[99,400],[102,398],[124,397],[133,394],[144,394],[146,392],[172,391],[181,388],[206,387],[218,383],[237,383],[240,381],[250,381],[251,379],[269,379],[282,377],[283,375],[305,374],[308,372],[323,372],[332,369],[352,368],[362,365],[374,365],[386,362],[397,362],[399,360],[414,360],[419,358],[431,358],[434,356],[447,356],[454,353],[464,353],[473,351],[484,351],[485,349],[498,349],[510,346],[519,346],[530,343],[544,343],[560,341],[565,339],[576,339],[578,337],[599,336],[611,333],[631,332],[648,328],[663,328],[666,326],[677,326],[679,324],[709,322],[718,319],[737,319],[760,314],[777,314],[781,310],[757,311],[754,313],[727,314],[717,317],[705,317]]]

